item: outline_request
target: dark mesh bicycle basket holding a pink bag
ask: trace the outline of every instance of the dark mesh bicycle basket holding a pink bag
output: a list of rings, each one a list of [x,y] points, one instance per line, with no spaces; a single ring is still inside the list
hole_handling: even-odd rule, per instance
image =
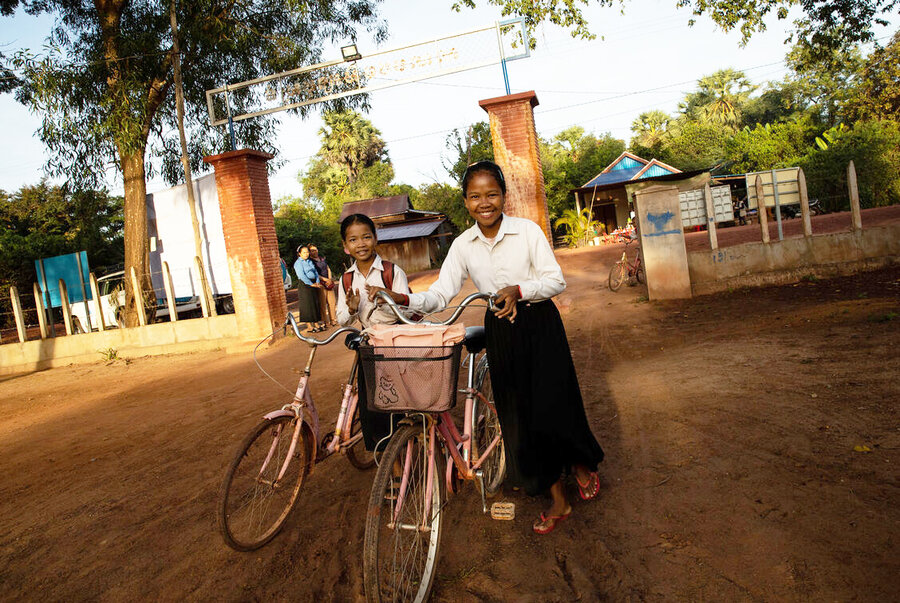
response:
[[[377,412],[444,412],[456,404],[462,344],[360,346],[366,404]]]

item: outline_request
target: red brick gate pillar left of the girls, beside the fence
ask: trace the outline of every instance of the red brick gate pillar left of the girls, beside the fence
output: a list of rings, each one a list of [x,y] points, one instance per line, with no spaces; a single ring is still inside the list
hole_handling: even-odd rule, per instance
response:
[[[266,172],[272,157],[241,149],[203,158],[216,171],[234,312],[246,339],[270,334],[287,314]]]

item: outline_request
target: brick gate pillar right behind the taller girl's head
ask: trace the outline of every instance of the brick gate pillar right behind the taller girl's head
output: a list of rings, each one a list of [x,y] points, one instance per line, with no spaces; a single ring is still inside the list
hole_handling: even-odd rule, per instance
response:
[[[537,222],[552,245],[544,171],[534,128],[534,108],[537,104],[534,91],[489,98],[478,103],[490,117],[494,161],[506,177],[505,212]]]

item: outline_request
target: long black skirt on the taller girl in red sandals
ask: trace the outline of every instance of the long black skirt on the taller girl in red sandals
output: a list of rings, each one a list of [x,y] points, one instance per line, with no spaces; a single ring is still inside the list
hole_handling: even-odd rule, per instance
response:
[[[573,465],[603,460],[584,413],[566,330],[550,301],[519,303],[515,323],[488,311],[488,364],[503,441],[507,483],[529,495],[550,488]]]

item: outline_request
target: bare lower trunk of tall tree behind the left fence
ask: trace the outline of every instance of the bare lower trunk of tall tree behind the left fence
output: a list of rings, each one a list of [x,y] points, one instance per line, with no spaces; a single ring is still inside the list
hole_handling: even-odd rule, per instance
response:
[[[119,152],[122,174],[125,177],[125,326],[138,325],[137,308],[131,284],[131,268],[140,280],[145,298],[156,296],[150,283],[150,247],[147,242],[147,181],[144,171],[144,148]],[[143,300],[137,300],[143,303]]]

